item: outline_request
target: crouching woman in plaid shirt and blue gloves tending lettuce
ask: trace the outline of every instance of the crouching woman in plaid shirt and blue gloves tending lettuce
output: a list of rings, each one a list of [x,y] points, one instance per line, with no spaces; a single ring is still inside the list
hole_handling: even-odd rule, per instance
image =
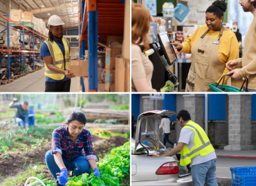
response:
[[[46,164],[55,180],[60,173],[60,185],[68,182],[68,171],[71,171],[71,176],[80,176],[89,173],[92,168],[93,175],[100,177],[91,134],[84,129],[85,124],[84,113],[73,111],[66,119],[67,126],[53,131],[52,149],[46,152]]]

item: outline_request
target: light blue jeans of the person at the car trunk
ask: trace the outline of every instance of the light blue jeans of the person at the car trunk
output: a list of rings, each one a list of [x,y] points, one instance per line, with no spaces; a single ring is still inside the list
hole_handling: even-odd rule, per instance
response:
[[[203,186],[205,184],[205,180],[208,186],[218,186],[215,171],[215,159],[198,165],[192,165],[191,174],[194,186]]]

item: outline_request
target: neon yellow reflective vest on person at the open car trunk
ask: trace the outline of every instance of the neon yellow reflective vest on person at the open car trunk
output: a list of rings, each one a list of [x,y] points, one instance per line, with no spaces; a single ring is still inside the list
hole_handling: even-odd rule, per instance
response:
[[[191,150],[188,147],[184,146],[181,150],[181,166],[185,166],[191,163],[191,159],[194,156],[201,155],[206,156],[211,152],[214,152],[214,148],[210,143],[208,136],[200,125],[194,123],[193,121],[189,121],[185,127],[191,130],[194,130],[194,147]]]

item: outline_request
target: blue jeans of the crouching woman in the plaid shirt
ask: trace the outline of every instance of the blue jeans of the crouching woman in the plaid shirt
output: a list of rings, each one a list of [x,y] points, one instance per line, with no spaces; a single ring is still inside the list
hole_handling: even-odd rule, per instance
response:
[[[62,157],[62,160],[66,169],[68,169],[68,171],[73,171],[74,176],[80,176],[84,173],[89,173],[91,170],[91,166],[86,160],[85,156],[78,156],[71,161],[67,161],[65,158]],[[46,152],[46,165],[50,170],[51,174],[53,174],[55,180],[57,180],[56,174],[61,172],[61,170],[55,163],[54,157],[51,154],[51,150],[48,150],[48,152]]]

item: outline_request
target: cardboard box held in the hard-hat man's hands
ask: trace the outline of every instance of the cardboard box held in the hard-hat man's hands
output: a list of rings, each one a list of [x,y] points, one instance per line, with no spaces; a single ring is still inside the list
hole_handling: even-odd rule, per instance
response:
[[[81,59],[70,59],[69,68],[76,76],[88,77],[88,61]]]

